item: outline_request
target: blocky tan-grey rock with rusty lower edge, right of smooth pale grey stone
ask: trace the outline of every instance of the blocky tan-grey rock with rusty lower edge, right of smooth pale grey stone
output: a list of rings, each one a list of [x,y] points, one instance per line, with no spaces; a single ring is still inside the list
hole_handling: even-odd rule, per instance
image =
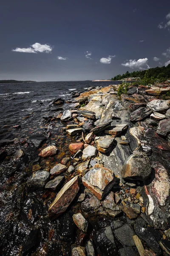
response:
[[[113,137],[107,135],[100,137],[99,140],[96,140],[97,149],[100,152],[107,153],[110,150],[111,145],[113,144],[113,140]]]

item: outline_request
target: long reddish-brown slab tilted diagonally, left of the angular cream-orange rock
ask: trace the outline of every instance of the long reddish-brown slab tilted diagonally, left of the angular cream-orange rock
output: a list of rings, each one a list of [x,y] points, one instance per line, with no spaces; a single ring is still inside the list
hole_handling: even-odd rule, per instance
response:
[[[48,208],[48,216],[50,219],[54,220],[65,212],[79,192],[80,181],[80,177],[75,176],[62,187]]]

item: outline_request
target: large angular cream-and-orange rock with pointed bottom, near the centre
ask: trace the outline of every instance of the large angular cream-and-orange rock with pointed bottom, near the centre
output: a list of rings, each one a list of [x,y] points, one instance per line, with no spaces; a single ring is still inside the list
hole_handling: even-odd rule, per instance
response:
[[[113,187],[115,177],[111,170],[96,164],[89,172],[82,177],[82,183],[99,200]]]

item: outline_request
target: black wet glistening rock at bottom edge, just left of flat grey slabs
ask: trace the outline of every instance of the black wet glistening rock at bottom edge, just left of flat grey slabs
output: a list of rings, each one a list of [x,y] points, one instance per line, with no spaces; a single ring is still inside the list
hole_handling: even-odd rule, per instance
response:
[[[99,255],[113,256],[117,253],[116,243],[111,227],[105,227],[94,232],[93,240],[96,244],[96,249]]]

